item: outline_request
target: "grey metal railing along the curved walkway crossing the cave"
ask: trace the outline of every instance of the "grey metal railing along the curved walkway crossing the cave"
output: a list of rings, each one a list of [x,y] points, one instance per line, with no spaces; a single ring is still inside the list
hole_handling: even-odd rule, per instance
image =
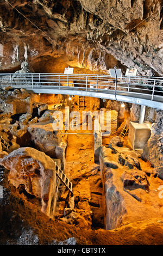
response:
[[[14,73],[0,74],[0,87],[25,89],[54,89],[64,94],[65,90],[73,90],[74,95],[78,90],[84,92],[128,95],[150,101],[163,103],[163,78],[122,76],[113,78],[110,75],[95,74],[37,74]],[[88,95],[89,94],[86,94]],[[105,97],[105,96],[104,96]],[[133,102],[133,101],[131,101]]]

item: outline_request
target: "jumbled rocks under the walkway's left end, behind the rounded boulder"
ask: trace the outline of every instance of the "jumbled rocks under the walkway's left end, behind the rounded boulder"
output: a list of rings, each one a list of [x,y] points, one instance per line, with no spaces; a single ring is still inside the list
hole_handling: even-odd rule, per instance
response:
[[[48,104],[39,102],[40,95],[22,89],[3,92],[1,96],[0,131],[11,142],[10,152],[32,147],[60,159],[64,169],[66,136],[54,131],[54,111],[48,109]]]

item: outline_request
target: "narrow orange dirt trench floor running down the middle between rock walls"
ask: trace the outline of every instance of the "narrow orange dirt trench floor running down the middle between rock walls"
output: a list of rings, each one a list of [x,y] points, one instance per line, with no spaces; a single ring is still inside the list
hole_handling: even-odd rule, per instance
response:
[[[68,196],[67,191],[61,194],[57,215],[78,227],[104,228],[103,185],[100,166],[94,162],[94,138],[89,132],[68,135],[65,174],[70,176],[73,190]]]

